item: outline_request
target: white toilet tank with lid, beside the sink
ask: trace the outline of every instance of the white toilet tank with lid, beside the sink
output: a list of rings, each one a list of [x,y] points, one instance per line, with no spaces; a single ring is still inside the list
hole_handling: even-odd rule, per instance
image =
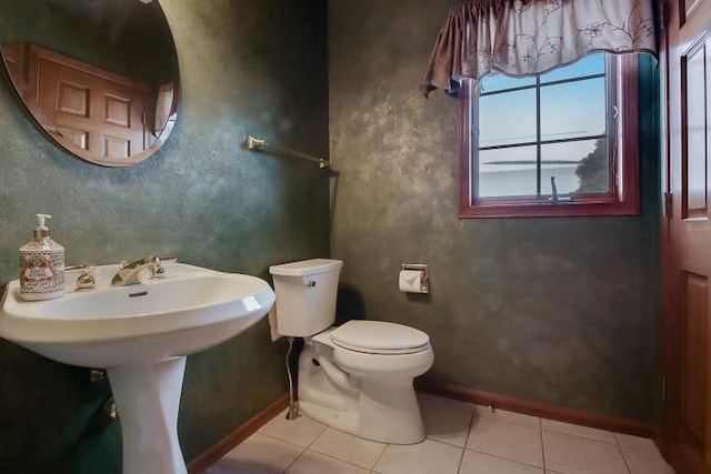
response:
[[[306,337],[336,321],[336,295],[343,262],[312,259],[272,265],[279,334]]]

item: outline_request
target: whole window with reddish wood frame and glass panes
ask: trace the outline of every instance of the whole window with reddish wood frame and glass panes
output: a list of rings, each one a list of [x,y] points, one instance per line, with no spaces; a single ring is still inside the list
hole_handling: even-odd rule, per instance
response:
[[[637,60],[602,52],[463,84],[462,218],[639,212]]]

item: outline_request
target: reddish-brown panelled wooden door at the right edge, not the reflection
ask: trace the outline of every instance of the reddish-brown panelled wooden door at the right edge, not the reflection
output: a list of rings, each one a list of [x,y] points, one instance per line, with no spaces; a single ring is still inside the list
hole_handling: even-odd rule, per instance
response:
[[[669,0],[662,44],[663,452],[711,473],[711,1]]]

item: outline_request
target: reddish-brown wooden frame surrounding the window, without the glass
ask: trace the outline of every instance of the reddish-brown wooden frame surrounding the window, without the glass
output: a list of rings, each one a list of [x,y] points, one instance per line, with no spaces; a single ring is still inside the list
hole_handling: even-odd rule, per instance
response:
[[[621,120],[617,123],[614,137],[607,128],[609,155],[614,153],[610,144],[617,141],[619,153],[611,162],[611,192],[587,194],[582,199],[548,200],[489,198],[474,200],[473,173],[477,172],[472,127],[475,124],[473,111],[478,103],[478,92],[473,81],[465,80],[460,89],[457,117],[457,153],[459,157],[459,216],[475,218],[544,218],[544,216],[594,216],[635,215],[640,212],[639,190],[639,84],[637,54],[622,54],[619,61],[617,87]],[[610,95],[608,98],[610,100]],[[611,108],[608,108],[610,110]],[[611,120],[610,117],[607,119]],[[614,119],[613,119],[614,120]],[[617,160],[617,163],[615,163]],[[615,177],[615,171],[619,177]]]

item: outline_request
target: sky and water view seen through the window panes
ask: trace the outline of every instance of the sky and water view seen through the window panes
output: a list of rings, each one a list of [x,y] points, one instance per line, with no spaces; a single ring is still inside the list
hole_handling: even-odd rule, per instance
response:
[[[604,53],[588,56],[570,65],[541,74],[541,84],[602,74]],[[479,151],[479,196],[537,194],[535,88],[487,94],[535,84],[535,78],[491,74],[481,82],[479,148],[517,144]],[[603,77],[541,87],[541,141],[595,137],[605,133]],[[579,188],[575,168],[595,149],[594,139],[541,145],[541,194],[551,194],[551,175],[559,194]]]

